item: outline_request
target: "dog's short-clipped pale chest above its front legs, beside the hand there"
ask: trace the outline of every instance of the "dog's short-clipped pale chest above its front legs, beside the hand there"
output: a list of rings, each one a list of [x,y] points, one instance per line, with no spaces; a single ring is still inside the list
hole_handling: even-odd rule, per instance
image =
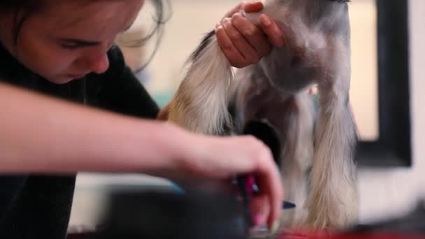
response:
[[[348,0],[264,0],[262,13],[270,16],[284,31],[285,48],[269,59],[278,75],[273,85],[298,91],[312,82],[335,75],[338,69],[350,72],[350,20]],[[248,15],[259,19],[259,15]],[[252,18],[251,18],[252,17]],[[277,55],[276,55],[277,54]],[[284,59],[282,59],[282,55]],[[270,61],[267,62],[270,64]],[[284,75],[284,78],[282,78]]]

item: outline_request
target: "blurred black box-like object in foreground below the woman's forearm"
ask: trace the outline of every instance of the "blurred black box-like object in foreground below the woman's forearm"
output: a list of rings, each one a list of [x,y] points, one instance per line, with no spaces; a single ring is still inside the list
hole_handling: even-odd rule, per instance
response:
[[[249,226],[234,194],[220,191],[145,190],[108,194],[104,225],[95,239],[246,239]]]

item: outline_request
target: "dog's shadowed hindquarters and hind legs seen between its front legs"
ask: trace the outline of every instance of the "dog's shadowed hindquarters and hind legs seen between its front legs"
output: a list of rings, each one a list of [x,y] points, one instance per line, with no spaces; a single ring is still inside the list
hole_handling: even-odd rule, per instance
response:
[[[251,120],[265,120],[277,130],[284,199],[297,205],[283,213],[281,226],[291,229],[305,224],[308,215],[303,205],[312,163],[315,108],[308,92],[283,94],[261,72],[258,66],[250,66],[236,73],[230,101],[233,129],[238,132]]]

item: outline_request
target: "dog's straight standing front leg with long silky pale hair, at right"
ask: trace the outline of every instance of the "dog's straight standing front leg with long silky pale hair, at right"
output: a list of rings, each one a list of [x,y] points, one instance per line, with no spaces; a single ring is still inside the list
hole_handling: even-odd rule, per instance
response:
[[[310,175],[308,224],[315,229],[344,229],[356,223],[358,198],[354,147],[356,130],[349,108],[350,48],[336,43],[334,64],[319,82],[320,108],[315,159]]]

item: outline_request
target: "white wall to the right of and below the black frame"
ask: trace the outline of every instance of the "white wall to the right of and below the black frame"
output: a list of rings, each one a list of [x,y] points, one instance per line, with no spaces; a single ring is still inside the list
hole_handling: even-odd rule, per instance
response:
[[[409,4],[414,166],[412,169],[360,171],[363,222],[408,212],[419,198],[425,196],[425,1],[410,0]]]

